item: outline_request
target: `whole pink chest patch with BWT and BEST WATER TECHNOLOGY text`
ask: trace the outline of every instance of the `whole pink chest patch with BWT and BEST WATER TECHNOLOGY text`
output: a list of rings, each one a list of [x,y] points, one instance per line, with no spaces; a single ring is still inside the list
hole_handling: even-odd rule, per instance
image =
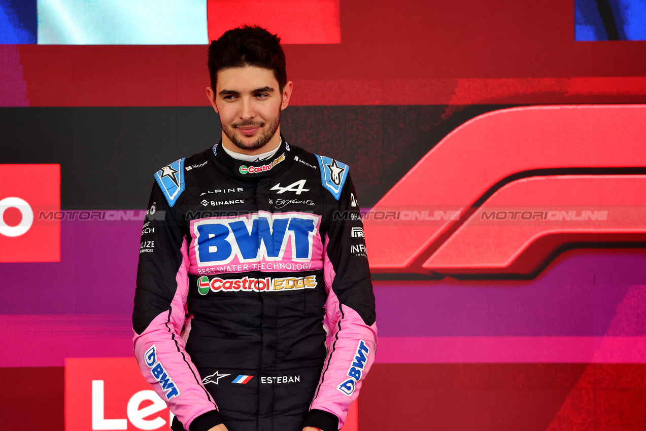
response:
[[[320,269],[319,223],[315,214],[266,211],[191,221],[191,273]]]

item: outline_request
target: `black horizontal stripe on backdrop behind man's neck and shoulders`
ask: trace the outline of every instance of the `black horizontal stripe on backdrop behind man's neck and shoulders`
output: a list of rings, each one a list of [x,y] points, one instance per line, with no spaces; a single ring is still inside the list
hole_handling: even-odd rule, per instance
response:
[[[503,105],[290,106],[287,142],[351,166],[372,206],[454,128]],[[161,167],[219,141],[213,108],[0,108],[0,163],[59,163],[63,210],[145,208]],[[468,157],[468,155],[465,155]]]

